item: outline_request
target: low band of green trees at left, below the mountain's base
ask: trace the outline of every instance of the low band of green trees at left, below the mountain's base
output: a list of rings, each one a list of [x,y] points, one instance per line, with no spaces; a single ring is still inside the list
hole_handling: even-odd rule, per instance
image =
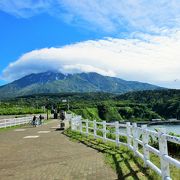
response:
[[[1,100],[0,115],[42,113],[45,109],[51,110],[53,108],[67,110],[67,102],[71,104],[71,107],[73,104],[75,108],[85,107],[86,102],[88,102],[88,106],[94,107],[93,102],[112,99],[112,97],[114,95],[110,93],[58,93],[21,96]],[[62,102],[63,100],[67,102]]]

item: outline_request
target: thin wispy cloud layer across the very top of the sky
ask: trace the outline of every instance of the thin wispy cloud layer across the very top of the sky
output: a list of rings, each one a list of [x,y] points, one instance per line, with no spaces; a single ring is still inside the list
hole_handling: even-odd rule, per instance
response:
[[[28,18],[48,13],[65,22],[106,33],[179,28],[179,0],[1,0],[0,10]]]

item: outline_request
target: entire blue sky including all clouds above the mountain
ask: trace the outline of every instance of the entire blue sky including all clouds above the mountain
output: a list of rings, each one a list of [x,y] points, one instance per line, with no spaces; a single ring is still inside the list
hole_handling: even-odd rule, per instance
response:
[[[96,71],[180,88],[178,0],[1,0],[0,84]]]

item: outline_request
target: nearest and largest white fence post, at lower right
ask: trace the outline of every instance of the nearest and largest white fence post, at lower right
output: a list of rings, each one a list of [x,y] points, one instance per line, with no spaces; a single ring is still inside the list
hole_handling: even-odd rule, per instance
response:
[[[164,136],[165,133],[166,133],[166,129],[164,128],[158,129],[161,172],[162,172],[163,180],[170,177],[169,163],[168,161],[165,161],[163,159],[164,155],[168,155],[167,140]]]

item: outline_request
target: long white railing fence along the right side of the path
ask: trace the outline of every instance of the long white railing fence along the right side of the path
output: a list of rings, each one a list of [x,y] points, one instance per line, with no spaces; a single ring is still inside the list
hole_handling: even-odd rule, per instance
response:
[[[180,168],[180,161],[170,157],[167,148],[167,141],[180,145],[180,138],[166,134],[165,129],[159,129],[158,132],[155,132],[147,129],[146,125],[137,127],[136,123],[131,125],[129,122],[126,124],[120,124],[119,122],[107,123],[106,121],[97,122],[83,120],[81,116],[72,116],[70,119],[72,130],[79,131],[87,136],[93,135],[94,138],[101,138],[104,142],[114,142],[117,146],[127,146],[136,156],[143,159],[145,167],[149,166],[158,173],[163,180],[171,179],[170,164]],[[125,133],[121,132],[121,128],[125,128]],[[150,136],[158,139],[159,149],[149,144]],[[121,142],[120,137],[126,137],[127,141]],[[142,146],[142,153],[139,151],[139,145]],[[160,168],[151,162],[150,152],[159,156]]]

